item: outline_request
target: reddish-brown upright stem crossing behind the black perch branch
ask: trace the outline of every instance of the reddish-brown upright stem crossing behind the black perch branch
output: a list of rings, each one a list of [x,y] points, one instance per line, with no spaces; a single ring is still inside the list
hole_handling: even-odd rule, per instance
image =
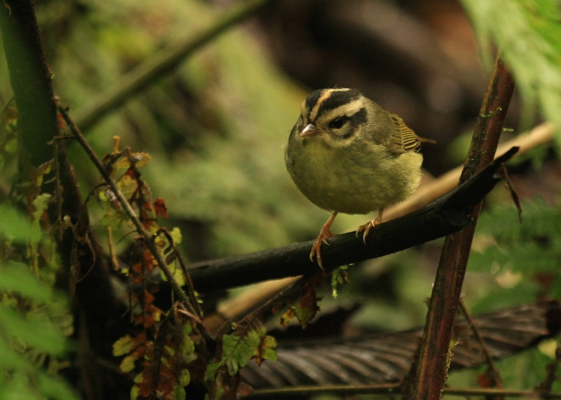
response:
[[[475,124],[460,184],[492,162],[513,90],[513,78],[502,63],[499,52]],[[419,350],[414,399],[440,398],[446,379],[452,327],[481,206],[482,201],[474,205],[471,209],[473,223],[461,232],[446,237],[442,248]]]

